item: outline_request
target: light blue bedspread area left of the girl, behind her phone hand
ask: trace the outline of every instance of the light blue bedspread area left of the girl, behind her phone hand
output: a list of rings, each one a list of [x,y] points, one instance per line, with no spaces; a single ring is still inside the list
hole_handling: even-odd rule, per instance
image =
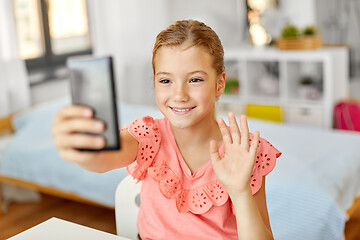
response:
[[[88,172],[62,160],[54,146],[50,133],[53,118],[68,103],[63,99],[15,118],[16,134],[4,151],[0,173],[113,206],[116,186],[127,175],[126,170]]]

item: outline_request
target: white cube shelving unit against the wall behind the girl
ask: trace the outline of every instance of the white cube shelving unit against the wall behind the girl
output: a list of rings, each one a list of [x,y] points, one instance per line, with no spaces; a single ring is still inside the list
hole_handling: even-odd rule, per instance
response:
[[[348,50],[343,47],[225,49],[225,67],[227,78],[238,80],[239,91],[224,94],[220,104],[281,106],[285,122],[330,128],[334,104],[349,93]],[[305,77],[314,84],[304,97],[300,82]]]

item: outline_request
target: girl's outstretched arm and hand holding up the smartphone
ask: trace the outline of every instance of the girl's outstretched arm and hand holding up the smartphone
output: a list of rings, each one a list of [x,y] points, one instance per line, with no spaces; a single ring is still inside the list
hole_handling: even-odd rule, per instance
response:
[[[103,122],[93,118],[89,108],[66,106],[55,117],[52,135],[60,156],[69,162],[75,162],[92,172],[106,172],[132,163],[137,154],[138,142],[124,130],[120,133],[119,151],[78,151],[76,148],[101,149],[105,146],[102,136],[92,136],[81,132],[101,133],[105,129]]]

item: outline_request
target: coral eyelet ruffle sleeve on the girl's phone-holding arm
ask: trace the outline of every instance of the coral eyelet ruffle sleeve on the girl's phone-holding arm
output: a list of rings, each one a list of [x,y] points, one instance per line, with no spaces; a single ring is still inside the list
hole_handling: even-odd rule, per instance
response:
[[[127,171],[135,179],[141,181],[147,174],[159,151],[161,135],[152,117],[137,119],[127,127],[128,132],[138,141],[139,147],[136,159],[127,166]]]

